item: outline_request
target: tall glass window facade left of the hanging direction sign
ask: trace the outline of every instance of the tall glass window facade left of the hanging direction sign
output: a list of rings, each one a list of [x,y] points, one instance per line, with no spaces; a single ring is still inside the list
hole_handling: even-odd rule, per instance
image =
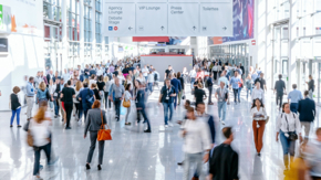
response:
[[[102,6],[102,0],[43,0],[46,67],[63,72],[77,64],[107,61]]]

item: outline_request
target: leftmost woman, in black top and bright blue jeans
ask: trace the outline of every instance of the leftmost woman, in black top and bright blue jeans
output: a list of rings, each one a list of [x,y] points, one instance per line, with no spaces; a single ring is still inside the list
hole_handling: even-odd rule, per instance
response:
[[[10,108],[12,112],[11,115],[11,121],[10,121],[10,127],[12,127],[13,120],[14,120],[14,116],[17,115],[17,127],[20,128],[20,112],[21,112],[21,100],[18,96],[18,93],[20,92],[20,88],[18,86],[14,86],[12,89],[12,94],[10,95]]]

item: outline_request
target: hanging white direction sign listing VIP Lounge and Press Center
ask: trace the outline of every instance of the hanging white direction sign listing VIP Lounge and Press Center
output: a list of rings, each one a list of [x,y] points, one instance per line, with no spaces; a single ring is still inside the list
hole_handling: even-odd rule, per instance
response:
[[[105,36],[232,36],[232,0],[105,0]]]

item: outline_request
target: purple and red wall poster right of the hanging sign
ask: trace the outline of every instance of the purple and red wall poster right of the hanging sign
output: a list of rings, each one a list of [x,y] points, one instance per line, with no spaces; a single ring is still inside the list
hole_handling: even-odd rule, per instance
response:
[[[255,0],[234,0],[234,35],[208,36],[208,44],[253,39]]]

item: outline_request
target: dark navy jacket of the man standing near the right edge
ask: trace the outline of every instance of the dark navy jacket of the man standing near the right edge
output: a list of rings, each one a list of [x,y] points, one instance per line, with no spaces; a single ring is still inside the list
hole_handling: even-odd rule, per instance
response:
[[[304,98],[299,102],[298,112],[300,113],[300,121],[313,121],[315,117],[315,103],[310,98]]]

